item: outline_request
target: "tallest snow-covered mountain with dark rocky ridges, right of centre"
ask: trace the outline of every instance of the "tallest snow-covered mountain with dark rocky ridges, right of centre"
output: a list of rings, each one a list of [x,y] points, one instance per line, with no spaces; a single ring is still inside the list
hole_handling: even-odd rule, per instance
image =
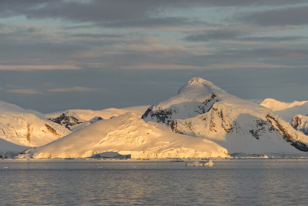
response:
[[[149,107],[142,118],[164,123],[175,133],[209,138],[229,153],[308,151],[308,137],[272,110],[197,77],[181,87],[176,96]]]

